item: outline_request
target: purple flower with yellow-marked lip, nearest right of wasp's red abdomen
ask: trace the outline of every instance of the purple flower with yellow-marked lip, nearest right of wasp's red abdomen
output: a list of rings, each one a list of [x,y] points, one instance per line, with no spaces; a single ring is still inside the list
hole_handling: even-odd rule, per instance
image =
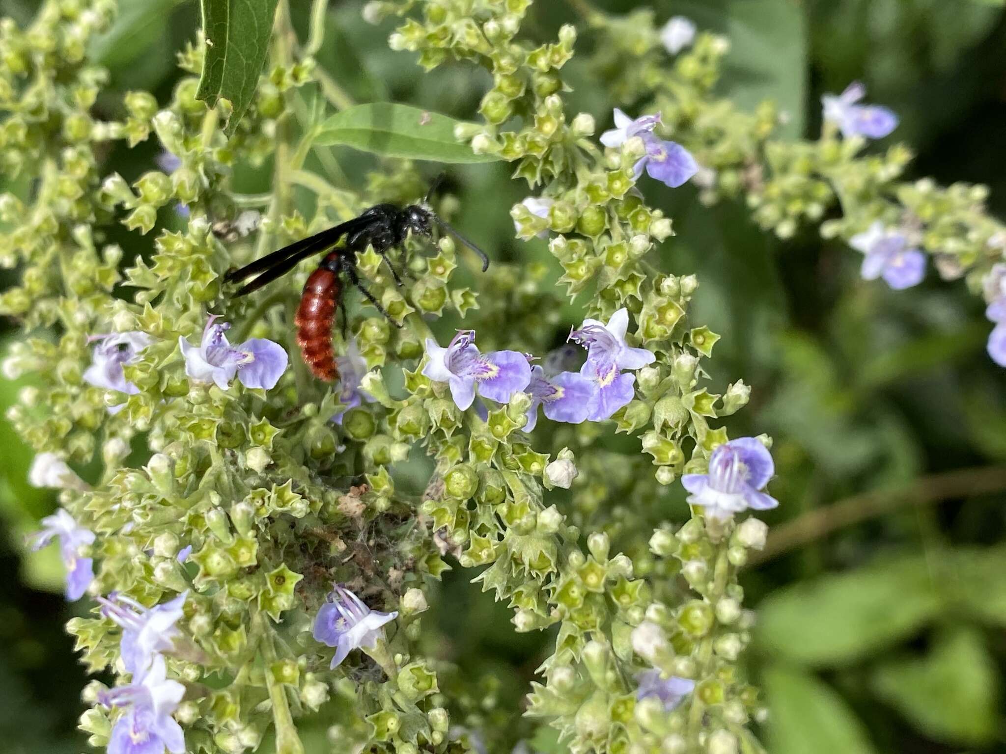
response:
[[[474,330],[459,330],[447,348],[427,338],[429,361],[423,367],[423,374],[448,383],[454,402],[462,411],[472,405],[476,389],[484,398],[506,403],[531,381],[531,367],[524,354],[493,351],[483,355],[474,340]]]

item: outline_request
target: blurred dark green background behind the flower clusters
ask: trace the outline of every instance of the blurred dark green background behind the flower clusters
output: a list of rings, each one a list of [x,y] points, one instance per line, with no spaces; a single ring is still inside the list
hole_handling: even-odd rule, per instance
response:
[[[121,5],[116,28],[94,48],[112,72],[97,106],[107,114],[127,89],[146,88],[166,103],[178,76],[174,52],[198,23],[192,0]],[[293,5],[303,31],[309,3]],[[394,100],[471,117],[487,74],[450,65],[423,75],[408,54],[387,49],[390,24],[363,23],[360,5],[332,3],[320,64],[358,102]],[[1006,211],[1002,2],[650,5],[660,19],[682,13],[728,34],[722,91],[746,106],[779,102],[790,115],[785,136],[817,134],[820,95],[860,78],[873,102],[901,117],[895,136],[918,155],[909,177],[989,184],[991,209]],[[25,23],[36,7],[0,0],[0,16]],[[545,37],[573,19],[564,2],[542,1],[526,28]],[[592,81],[591,44],[583,35],[567,66],[571,107],[604,128],[612,104]],[[105,168],[132,180],[156,153],[153,141],[118,148]],[[348,175],[359,171],[355,156],[339,158]],[[238,179],[264,190],[264,175]],[[508,209],[525,191],[506,166],[470,166],[454,179],[458,224],[478,228],[494,258],[551,262],[542,242],[512,238]],[[0,185],[11,189],[25,187]],[[762,233],[740,204],[710,209],[691,187],[670,191],[650,181],[644,189],[678,233],[661,263],[699,275],[694,321],[723,336],[712,360],[714,387],[737,378],[753,387],[748,408],[730,419],[730,434],[767,431],[776,440],[772,492],[782,505],[768,520],[777,539],[744,578],[747,601],[761,613],[748,670],[771,707],[770,751],[1006,751],[1006,373],[985,354],[990,326],[982,302],[932,272],[906,292],[866,284],[858,254],[822,242],[813,229],[784,243]],[[124,234],[121,242],[128,238],[128,250],[143,253],[153,235]],[[557,265],[550,269],[557,277]],[[0,271],[0,287],[15,274]],[[564,316],[575,315],[565,309]],[[14,323],[0,321],[0,351],[14,332]],[[0,378],[0,404],[13,402],[21,386]],[[55,500],[27,486],[32,453],[3,419],[0,448],[0,749],[81,751],[75,720],[86,678],[62,624],[85,608],[67,606],[58,593],[54,553],[26,556],[21,544]],[[645,515],[654,521],[681,515],[666,501],[639,505],[651,506]],[[485,693],[501,706],[516,706],[549,636],[514,634],[509,611],[468,585],[471,575],[446,577],[441,599],[451,609],[442,612],[438,650],[470,678],[488,679]]]

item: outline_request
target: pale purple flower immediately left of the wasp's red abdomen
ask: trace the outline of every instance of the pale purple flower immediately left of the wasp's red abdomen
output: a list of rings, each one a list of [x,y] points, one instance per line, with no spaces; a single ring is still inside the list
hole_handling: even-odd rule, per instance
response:
[[[199,382],[215,382],[221,390],[227,389],[235,374],[244,387],[266,390],[275,387],[287,369],[287,352],[263,338],[253,338],[232,348],[225,335],[230,325],[214,325],[216,318],[212,315],[206,322],[198,348],[178,337],[185,357],[185,374]]]

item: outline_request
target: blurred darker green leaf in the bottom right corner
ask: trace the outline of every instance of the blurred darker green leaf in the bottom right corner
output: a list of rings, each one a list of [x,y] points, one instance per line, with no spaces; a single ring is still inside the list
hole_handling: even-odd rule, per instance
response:
[[[880,666],[873,689],[930,738],[979,747],[996,738],[996,666],[975,629],[945,634],[923,658]]]

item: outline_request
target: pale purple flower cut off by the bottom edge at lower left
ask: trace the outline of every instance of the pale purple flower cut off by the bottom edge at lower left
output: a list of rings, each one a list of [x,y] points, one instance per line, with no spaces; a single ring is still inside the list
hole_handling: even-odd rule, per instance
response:
[[[171,717],[185,687],[168,681],[164,657],[155,655],[150,670],[133,683],[99,695],[108,707],[127,707],[109,738],[109,754],[185,754],[185,733]]]

